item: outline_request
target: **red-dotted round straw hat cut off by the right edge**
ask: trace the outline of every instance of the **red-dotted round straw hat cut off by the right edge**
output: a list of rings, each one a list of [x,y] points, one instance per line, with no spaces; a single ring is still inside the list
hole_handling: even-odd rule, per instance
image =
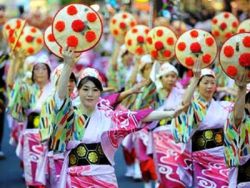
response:
[[[225,41],[219,58],[223,71],[229,77],[237,79],[246,71],[250,82],[250,33],[240,33]]]

